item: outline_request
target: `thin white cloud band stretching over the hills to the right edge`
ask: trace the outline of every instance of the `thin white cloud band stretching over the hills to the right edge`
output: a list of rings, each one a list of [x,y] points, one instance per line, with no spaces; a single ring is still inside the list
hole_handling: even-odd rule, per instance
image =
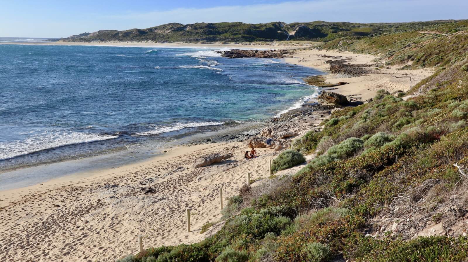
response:
[[[468,1],[439,0],[315,0],[290,1],[276,4],[224,6],[210,8],[177,8],[108,17],[129,21],[138,28],[148,28],[169,22],[242,21],[264,23],[271,21],[349,21],[396,22],[436,19],[463,19],[468,15]],[[138,25],[138,26],[137,26]]]

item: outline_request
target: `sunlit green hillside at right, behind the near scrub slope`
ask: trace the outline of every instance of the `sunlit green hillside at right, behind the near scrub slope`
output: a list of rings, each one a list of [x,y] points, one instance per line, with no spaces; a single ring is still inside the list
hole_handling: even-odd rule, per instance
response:
[[[445,66],[461,61],[468,52],[468,20],[433,24],[376,37],[342,37],[324,49],[382,55],[389,64],[412,63],[412,68]]]

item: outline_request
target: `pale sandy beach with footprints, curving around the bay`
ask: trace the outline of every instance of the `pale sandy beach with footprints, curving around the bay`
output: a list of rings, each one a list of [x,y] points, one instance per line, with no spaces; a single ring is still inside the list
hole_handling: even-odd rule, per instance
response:
[[[5,43],[2,43],[5,44]],[[30,43],[30,44],[90,44],[90,43]],[[288,45],[247,44],[151,44],[93,43],[120,46],[178,46],[222,48],[298,48]],[[305,43],[307,49],[315,43]],[[373,64],[378,57],[323,50],[299,50],[286,63],[314,67],[329,72],[328,56],[348,58],[351,64]],[[398,71],[399,66],[373,70],[360,77],[343,78],[327,74],[329,83],[347,82],[333,92],[344,94],[352,101],[364,101],[379,89],[390,92],[408,90],[430,76],[432,69]],[[298,121],[299,135],[318,126],[324,116]],[[298,136],[299,136],[298,135]],[[227,198],[238,194],[246,184],[247,173],[257,180],[252,186],[268,179],[268,163],[279,154],[273,149],[258,149],[256,159],[243,159],[248,150],[242,142],[216,142],[179,146],[145,162],[116,169],[95,170],[87,174],[62,177],[42,184],[0,192],[0,261],[18,262],[109,262],[138,252],[138,235],[145,247],[191,243],[214,234],[222,226],[219,208],[219,188]],[[193,168],[194,160],[212,153],[233,153],[233,157],[208,167]],[[307,156],[310,159],[311,156]],[[284,170],[278,175],[293,173]],[[262,180],[265,179],[265,180]],[[191,229],[186,228],[186,209],[191,210]],[[200,234],[206,222],[218,223]]]

